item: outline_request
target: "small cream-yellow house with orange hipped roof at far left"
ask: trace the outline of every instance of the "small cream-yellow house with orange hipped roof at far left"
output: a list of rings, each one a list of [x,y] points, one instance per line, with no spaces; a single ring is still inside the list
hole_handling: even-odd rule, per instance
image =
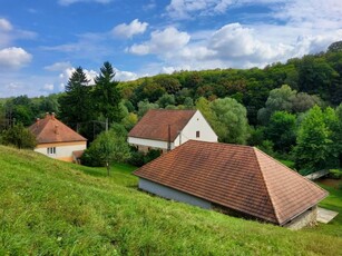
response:
[[[35,151],[63,161],[77,161],[87,148],[87,139],[59,121],[55,114],[47,114],[29,127],[36,136]]]

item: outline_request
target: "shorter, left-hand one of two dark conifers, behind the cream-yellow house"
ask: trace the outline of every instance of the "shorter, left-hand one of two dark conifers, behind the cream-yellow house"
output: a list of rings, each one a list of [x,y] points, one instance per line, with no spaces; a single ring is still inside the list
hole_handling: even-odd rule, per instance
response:
[[[60,117],[74,129],[80,122],[91,120],[91,101],[89,80],[81,67],[78,67],[71,75],[66,93],[59,98]]]

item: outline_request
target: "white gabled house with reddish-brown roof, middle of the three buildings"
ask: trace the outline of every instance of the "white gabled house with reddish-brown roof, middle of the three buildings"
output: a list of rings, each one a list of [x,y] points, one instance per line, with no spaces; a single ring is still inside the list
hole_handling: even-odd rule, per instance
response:
[[[140,151],[167,151],[189,139],[217,141],[217,135],[198,110],[152,109],[128,134],[128,142]]]

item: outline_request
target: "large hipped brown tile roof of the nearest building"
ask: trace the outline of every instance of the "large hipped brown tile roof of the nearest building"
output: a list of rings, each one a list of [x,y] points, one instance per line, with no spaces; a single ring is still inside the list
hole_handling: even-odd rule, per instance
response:
[[[228,144],[189,140],[134,174],[279,225],[328,195],[257,148]]]

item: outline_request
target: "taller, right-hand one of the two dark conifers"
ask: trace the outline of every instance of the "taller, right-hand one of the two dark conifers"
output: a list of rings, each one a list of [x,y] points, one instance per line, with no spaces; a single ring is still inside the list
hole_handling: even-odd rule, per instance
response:
[[[120,101],[121,96],[117,88],[118,81],[114,80],[115,71],[111,65],[106,61],[100,68],[100,73],[95,78],[95,91],[97,111],[109,122],[118,122],[121,120]]]

